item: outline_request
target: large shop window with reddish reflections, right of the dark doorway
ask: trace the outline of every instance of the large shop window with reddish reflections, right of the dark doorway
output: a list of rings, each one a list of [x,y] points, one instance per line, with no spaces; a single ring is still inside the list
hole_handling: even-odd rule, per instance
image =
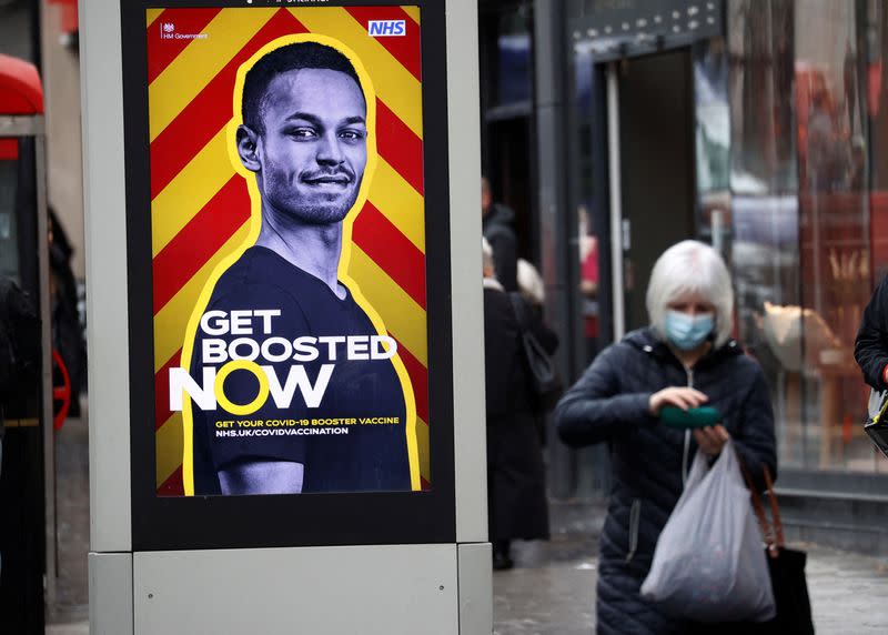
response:
[[[881,67],[866,50],[881,40],[857,27],[871,9],[728,2],[737,327],[771,387],[786,467],[888,471],[859,425],[867,389],[851,355],[874,284],[867,104]]]

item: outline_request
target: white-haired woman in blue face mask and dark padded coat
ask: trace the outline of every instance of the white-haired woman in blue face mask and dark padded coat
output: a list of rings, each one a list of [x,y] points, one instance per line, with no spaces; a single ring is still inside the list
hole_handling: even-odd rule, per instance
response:
[[[605,349],[555,411],[568,445],[610,447],[596,599],[602,635],[713,628],[666,615],[639,594],[697,448],[714,460],[731,439],[759,491],[764,466],[776,476],[768,389],[730,339],[734,295],[722,258],[697,241],[669,248],[654,265],[646,300],[650,325]],[[719,424],[692,432],[660,423],[666,405],[704,404],[719,412]]]

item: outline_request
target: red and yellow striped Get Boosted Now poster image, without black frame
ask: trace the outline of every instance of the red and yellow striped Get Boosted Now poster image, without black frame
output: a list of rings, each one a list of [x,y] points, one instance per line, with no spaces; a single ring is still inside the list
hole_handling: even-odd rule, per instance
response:
[[[418,8],[147,29],[158,495],[428,490]]]

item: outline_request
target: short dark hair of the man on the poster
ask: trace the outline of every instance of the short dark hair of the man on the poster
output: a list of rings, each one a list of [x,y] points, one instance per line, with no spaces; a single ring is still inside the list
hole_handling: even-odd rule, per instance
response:
[[[266,53],[246,72],[243,82],[241,115],[253,131],[265,132],[262,123],[262,99],[271,81],[279,74],[300,69],[340,71],[352,78],[364,92],[351,60],[333,47],[319,42],[295,42]]]

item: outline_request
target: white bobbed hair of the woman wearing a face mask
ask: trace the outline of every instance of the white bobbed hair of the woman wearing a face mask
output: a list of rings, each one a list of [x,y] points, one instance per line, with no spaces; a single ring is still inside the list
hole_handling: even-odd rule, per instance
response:
[[[707,244],[682,241],[663,252],[647,285],[647,315],[657,335],[666,339],[666,311],[670,302],[689,293],[715,306],[715,346],[722,346],[734,329],[734,290],[725,261]]]

